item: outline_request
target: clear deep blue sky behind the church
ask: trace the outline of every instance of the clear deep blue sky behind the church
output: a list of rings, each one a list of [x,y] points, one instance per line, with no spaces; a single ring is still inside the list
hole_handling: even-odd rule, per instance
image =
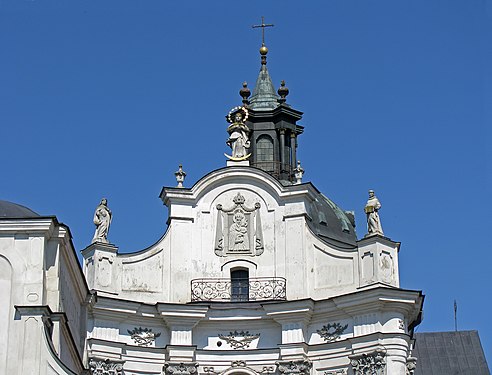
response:
[[[56,215],[77,250],[105,196],[121,252],[164,233],[158,194],[225,166],[224,116],[254,86],[304,112],[305,181],[401,241],[418,331],[477,329],[492,361],[490,3],[0,0],[0,199]]]

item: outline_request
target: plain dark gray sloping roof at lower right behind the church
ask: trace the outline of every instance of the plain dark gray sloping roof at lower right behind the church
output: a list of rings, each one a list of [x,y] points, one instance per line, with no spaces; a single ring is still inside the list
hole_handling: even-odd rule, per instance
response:
[[[490,375],[477,331],[415,334],[415,375]]]

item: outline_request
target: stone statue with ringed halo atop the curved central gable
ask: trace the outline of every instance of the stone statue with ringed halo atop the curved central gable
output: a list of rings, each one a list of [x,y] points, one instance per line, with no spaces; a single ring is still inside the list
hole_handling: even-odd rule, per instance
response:
[[[250,131],[245,124],[247,117],[248,110],[244,107],[233,108],[227,116],[227,121],[231,125],[227,128],[229,139],[227,139],[226,143],[232,149],[232,155],[226,156],[231,160],[245,160],[250,156],[248,154]]]

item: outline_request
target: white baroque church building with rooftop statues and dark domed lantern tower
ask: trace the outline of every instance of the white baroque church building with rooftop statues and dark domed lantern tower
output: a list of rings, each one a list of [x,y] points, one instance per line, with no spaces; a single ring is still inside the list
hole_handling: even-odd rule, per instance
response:
[[[423,295],[400,288],[400,244],[370,192],[368,231],[303,182],[302,113],[260,49],[253,92],[228,116],[224,168],[162,189],[149,248],[108,243],[101,201],[78,264],[69,228],[0,203],[0,373],[413,374]]]

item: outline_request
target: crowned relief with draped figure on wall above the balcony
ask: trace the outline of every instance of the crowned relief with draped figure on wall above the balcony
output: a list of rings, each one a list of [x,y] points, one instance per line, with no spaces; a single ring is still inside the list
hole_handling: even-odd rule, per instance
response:
[[[217,205],[216,255],[255,256],[263,253],[260,203],[256,202],[254,207],[248,207],[245,201],[241,193],[237,193],[230,208]]]

